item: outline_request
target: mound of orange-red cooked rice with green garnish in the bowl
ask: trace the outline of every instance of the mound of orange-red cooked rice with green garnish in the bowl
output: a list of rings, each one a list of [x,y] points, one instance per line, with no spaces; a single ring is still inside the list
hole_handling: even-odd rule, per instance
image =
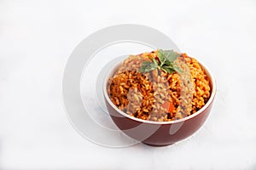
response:
[[[158,49],[125,59],[108,79],[107,92],[113,105],[127,115],[170,122],[199,111],[212,89],[196,59]]]

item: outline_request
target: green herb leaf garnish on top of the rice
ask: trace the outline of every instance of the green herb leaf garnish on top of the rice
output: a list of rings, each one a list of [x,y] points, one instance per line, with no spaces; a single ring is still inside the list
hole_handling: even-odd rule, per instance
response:
[[[182,73],[183,71],[174,63],[174,61],[179,57],[180,54],[175,53],[173,50],[163,50],[158,49],[157,55],[159,62],[156,59],[152,61],[143,61],[142,66],[139,68],[140,72],[154,71],[158,66],[161,70],[168,73],[173,73],[177,71]]]

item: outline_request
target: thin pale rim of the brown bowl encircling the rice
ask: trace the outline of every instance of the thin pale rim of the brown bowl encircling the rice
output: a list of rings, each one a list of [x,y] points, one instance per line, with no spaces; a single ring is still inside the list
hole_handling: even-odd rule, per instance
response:
[[[196,59],[198,61],[198,59]],[[122,116],[125,116],[133,121],[137,121],[137,122],[143,122],[143,123],[148,123],[148,124],[158,124],[158,125],[162,125],[162,124],[173,124],[173,123],[178,123],[178,122],[184,122],[184,121],[188,121],[189,119],[192,119],[195,116],[200,115],[203,111],[205,111],[211,104],[213,99],[215,98],[216,95],[216,91],[217,91],[217,87],[216,87],[216,81],[215,78],[212,75],[212,72],[209,71],[209,69],[207,68],[206,65],[202,64],[200,61],[198,61],[198,63],[201,65],[201,67],[203,67],[203,70],[206,72],[207,77],[209,77],[210,79],[210,83],[212,84],[212,92],[211,92],[211,96],[207,101],[207,104],[204,105],[199,111],[196,111],[194,114],[190,115],[190,116],[186,116],[182,119],[178,119],[178,120],[174,120],[174,121],[166,121],[166,122],[156,122],[156,121],[149,121],[149,120],[143,120],[134,116],[130,116],[127,113],[125,113],[124,111],[119,110],[119,108],[116,105],[113,105],[113,102],[111,101],[111,99],[108,96],[107,93],[107,82],[109,77],[111,77],[110,73],[114,71],[114,69],[117,69],[117,66],[122,64],[123,60],[120,61],[119,63],[117,63],[116,65],[113,66],[112,69],[110,69],[107,73],[107,76],[104,78],[103,81],[103,95],[105,97],[105,99],[107,100],[108,104],[111,105],[111,107],[117,111],[119,114],[121,114]],[[108,113],[110,116],[112,116],[111,113]]]

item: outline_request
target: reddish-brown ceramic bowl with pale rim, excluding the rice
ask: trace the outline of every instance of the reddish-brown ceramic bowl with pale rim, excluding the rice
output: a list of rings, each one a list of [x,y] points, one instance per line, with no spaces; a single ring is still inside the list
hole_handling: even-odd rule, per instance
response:
[[[157,146],[174,144],[177,141],[186,139],[195,133],[207,120],[207,116],[212,109],[213,99],[216,94],[216,82],[212,77],[212,73],[205,65],[201,64],[202,68],[207,73],[207,77],[210,79],[210,86],[212,89],[210,99],[200,111],[195,112],[191,116],[171,122],[145,121],[133,116],[129,116],[113,105],[112,101],[108,97],[107,82],[109,77],[113,77],[113,74],[117,71],[119,65],[116,65],[112,71],[109,71],[108,77],[106,77],[104,80],[103,94],[108,107],[108,112],[113,119],[113,122],[117,127],[119,127],[120,130],[122,130],[132,139],[137,139],[144,144]]]

